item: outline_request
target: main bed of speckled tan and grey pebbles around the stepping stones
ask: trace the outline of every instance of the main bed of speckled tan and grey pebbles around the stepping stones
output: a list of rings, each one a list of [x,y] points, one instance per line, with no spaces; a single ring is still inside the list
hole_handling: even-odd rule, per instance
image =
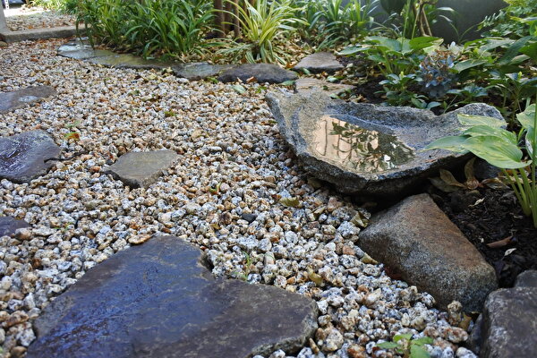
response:
[[[0,52],[0,91],[58,92],[2,115],[0,134],[41,129],[73,157],[31,183],[1,181],[0,216],[32,226],[0,238],[5,354],[23,356],[32,321],[86,270],[153,234],[174,234],[206,251],[217,277],[313,298],[320,328],[297,357],[400,356],[376,344],[403,333],[434,337],[432,357],[475,357],[459,346],[466,331],[449,323],[460,307],[438,311],[430,294],[388,277],[359,248],[369,214],[297,166],[263,99],[283,89],[245,84],[239,94],[166,71],[104,68],[56,56],[61,43]],[[148,189],[101,174],[126,152],[158,149],[181,159]]]

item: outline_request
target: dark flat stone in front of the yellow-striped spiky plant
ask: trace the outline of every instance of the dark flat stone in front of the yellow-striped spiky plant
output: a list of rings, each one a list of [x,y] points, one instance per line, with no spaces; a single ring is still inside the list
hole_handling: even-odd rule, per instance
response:
[[[223,72],[218,81],[234,82],[237,79],[245,82],[251,78],[259,83],[282,83],[294,81],[298,75],[293,71],[287,71],[276,64],[240,64],[226,72]]]

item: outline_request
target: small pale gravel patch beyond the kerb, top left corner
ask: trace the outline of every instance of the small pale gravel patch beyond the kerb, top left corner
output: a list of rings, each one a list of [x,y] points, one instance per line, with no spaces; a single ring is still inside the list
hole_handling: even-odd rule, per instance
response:
[[[39,7],[13,6],[4,10],[5,22],[12,31],[74,25],[74,16]]]

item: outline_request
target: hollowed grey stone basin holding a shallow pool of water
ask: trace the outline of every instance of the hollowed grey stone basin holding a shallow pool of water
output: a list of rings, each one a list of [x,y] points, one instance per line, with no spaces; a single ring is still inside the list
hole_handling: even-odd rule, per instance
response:
[[[411,107],[380,107],[332,99],[323,91],[268,93],[279,131],[311,175],[340,192],[364,197],[401,198],[440,167],[465,156],[422,149],[460,132],[458,114],[502,118],[494,107],[465,106],[447,115]]]

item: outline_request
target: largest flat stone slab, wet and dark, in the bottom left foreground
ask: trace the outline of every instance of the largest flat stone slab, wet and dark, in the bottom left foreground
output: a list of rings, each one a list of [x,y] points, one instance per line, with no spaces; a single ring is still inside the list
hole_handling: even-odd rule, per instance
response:
[[[246,358],[300,349],[317,305],[274,286],[216,280],[199,249],[154,237],[91,268],[36,320],[27,358]]]

